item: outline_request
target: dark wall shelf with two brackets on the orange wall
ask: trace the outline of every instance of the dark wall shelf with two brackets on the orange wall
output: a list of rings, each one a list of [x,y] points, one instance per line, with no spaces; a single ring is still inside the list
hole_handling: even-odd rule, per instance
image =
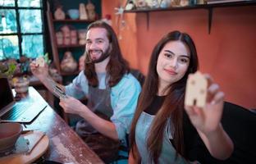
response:
[[[256,6],[255,0],[239,1],[239,2],[221,2],[214,4],[198,4],[187,7],[168,7],[168,8],[149,8],[140,10],[129,10],[124,11],[125,13],[145,13],[147,15],[147,29],[149,29],[149,13],[156,11],[183,11],[183,10],[196,10],[196,9],[206,9],[208,10],[208,34],[211,33],[212,20],[213,20],[213,8],[217,7],[242,7],[242,6]]]

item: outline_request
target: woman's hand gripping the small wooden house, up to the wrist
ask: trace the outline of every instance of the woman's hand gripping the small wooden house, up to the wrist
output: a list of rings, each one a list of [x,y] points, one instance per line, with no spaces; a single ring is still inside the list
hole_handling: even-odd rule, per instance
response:
[[[221,127],[224,93],[218,84],[213,82],[210,75],[204,75],[208,80],[208,96],[205,107],[185,106],[194,127],[203,134],[212,134]]]

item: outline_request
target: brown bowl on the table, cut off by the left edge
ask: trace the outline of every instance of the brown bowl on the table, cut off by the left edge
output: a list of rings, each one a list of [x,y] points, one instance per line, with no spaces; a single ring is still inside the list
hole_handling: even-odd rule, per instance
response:
[[[0,124],[0,152],[13,148],[20,137],[22,125],[19,123]]]

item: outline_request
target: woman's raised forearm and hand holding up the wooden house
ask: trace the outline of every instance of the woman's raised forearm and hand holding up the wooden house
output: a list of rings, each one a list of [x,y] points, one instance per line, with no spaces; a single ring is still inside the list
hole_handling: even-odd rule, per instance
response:
[[[208,100],[205,107],[185,106],[185,111],[211,155],[225,160],[231,156],[234,145],[221,124],[224,93],[209,75],[205,77],[208,79]]]

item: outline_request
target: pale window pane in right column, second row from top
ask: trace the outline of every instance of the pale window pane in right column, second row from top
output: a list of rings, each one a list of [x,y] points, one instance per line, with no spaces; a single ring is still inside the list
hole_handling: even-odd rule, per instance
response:
[[[21,33],[42,33],[41,10],[19,10]]]

